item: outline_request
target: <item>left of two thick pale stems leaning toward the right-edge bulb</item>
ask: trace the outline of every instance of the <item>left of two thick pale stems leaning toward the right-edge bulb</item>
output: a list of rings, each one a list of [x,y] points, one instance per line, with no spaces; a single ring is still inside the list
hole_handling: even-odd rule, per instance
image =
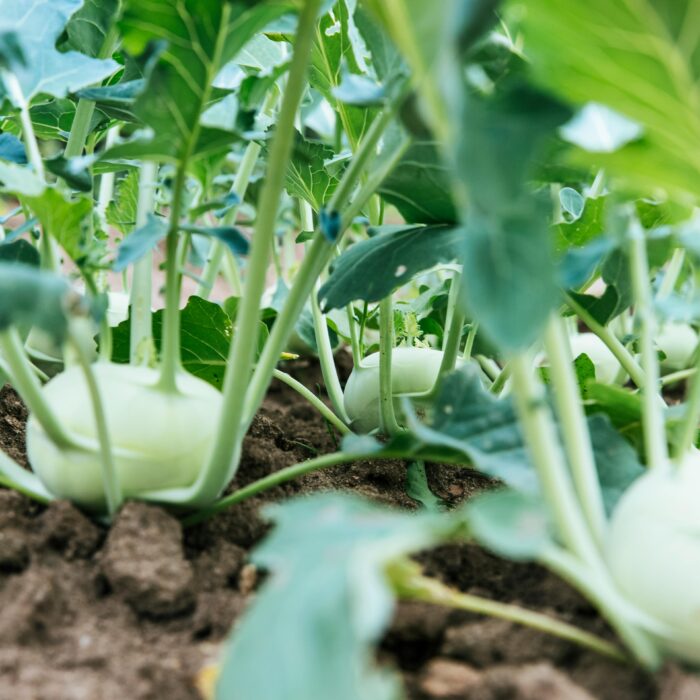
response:
[[[598,549],[577,499],[559,444],[547,395],[527,354],[512,358],[513,394],[542,494],[567,549],[587,564],[600,564]]]

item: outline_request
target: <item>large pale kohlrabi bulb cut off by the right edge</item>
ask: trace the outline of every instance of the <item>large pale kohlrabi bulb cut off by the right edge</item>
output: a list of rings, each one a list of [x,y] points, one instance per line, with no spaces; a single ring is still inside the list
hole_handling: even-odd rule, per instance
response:
[[[652,469],[623,495],[610,523],[610,571],[622,594],[668,627],[669,655],[700,664],[700,452]]]

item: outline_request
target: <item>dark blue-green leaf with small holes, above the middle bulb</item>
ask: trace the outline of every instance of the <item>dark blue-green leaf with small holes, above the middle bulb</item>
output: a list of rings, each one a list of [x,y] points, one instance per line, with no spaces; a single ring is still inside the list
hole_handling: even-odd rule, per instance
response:
[[[463,237],[452,226],[387,227],[355,243],[333,263],[318,292],[324,311],[351,301],[379,301],[423,270],[453,261]]]

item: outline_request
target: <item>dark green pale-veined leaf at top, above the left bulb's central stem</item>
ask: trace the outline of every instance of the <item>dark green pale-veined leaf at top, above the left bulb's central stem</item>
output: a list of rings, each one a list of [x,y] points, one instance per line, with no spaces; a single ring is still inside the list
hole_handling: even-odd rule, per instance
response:
[[[182,161],[226,148],[235,139],[232,132],[200,124],[214,78],[287,9],[279,2],[127,0],[119,20],[124,48],[138,55],[152,41],[167,42],[133,105],[134,114],[155,135],[148,143],[117,146],[106,157]]]

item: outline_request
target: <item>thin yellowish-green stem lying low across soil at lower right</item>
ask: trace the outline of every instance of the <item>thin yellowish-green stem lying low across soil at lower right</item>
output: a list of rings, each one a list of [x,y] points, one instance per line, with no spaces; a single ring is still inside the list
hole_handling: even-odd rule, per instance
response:
[[[519,605],[499,603],[488,598],[462,593],[446,586],[437,579],[424,576],[420,567],[412,561],[402,560],[391,565],[388,576],[392,587],[403,600],[418,600],[434,605],[443,605],[456,610],[507,620],[517,625],[550,634],[559,639],[578,644],[602,656],[620,662],[629,662],[624,652],[614,644],[586,632],[579,627],[556,620],[549,615],[521,608]]]

